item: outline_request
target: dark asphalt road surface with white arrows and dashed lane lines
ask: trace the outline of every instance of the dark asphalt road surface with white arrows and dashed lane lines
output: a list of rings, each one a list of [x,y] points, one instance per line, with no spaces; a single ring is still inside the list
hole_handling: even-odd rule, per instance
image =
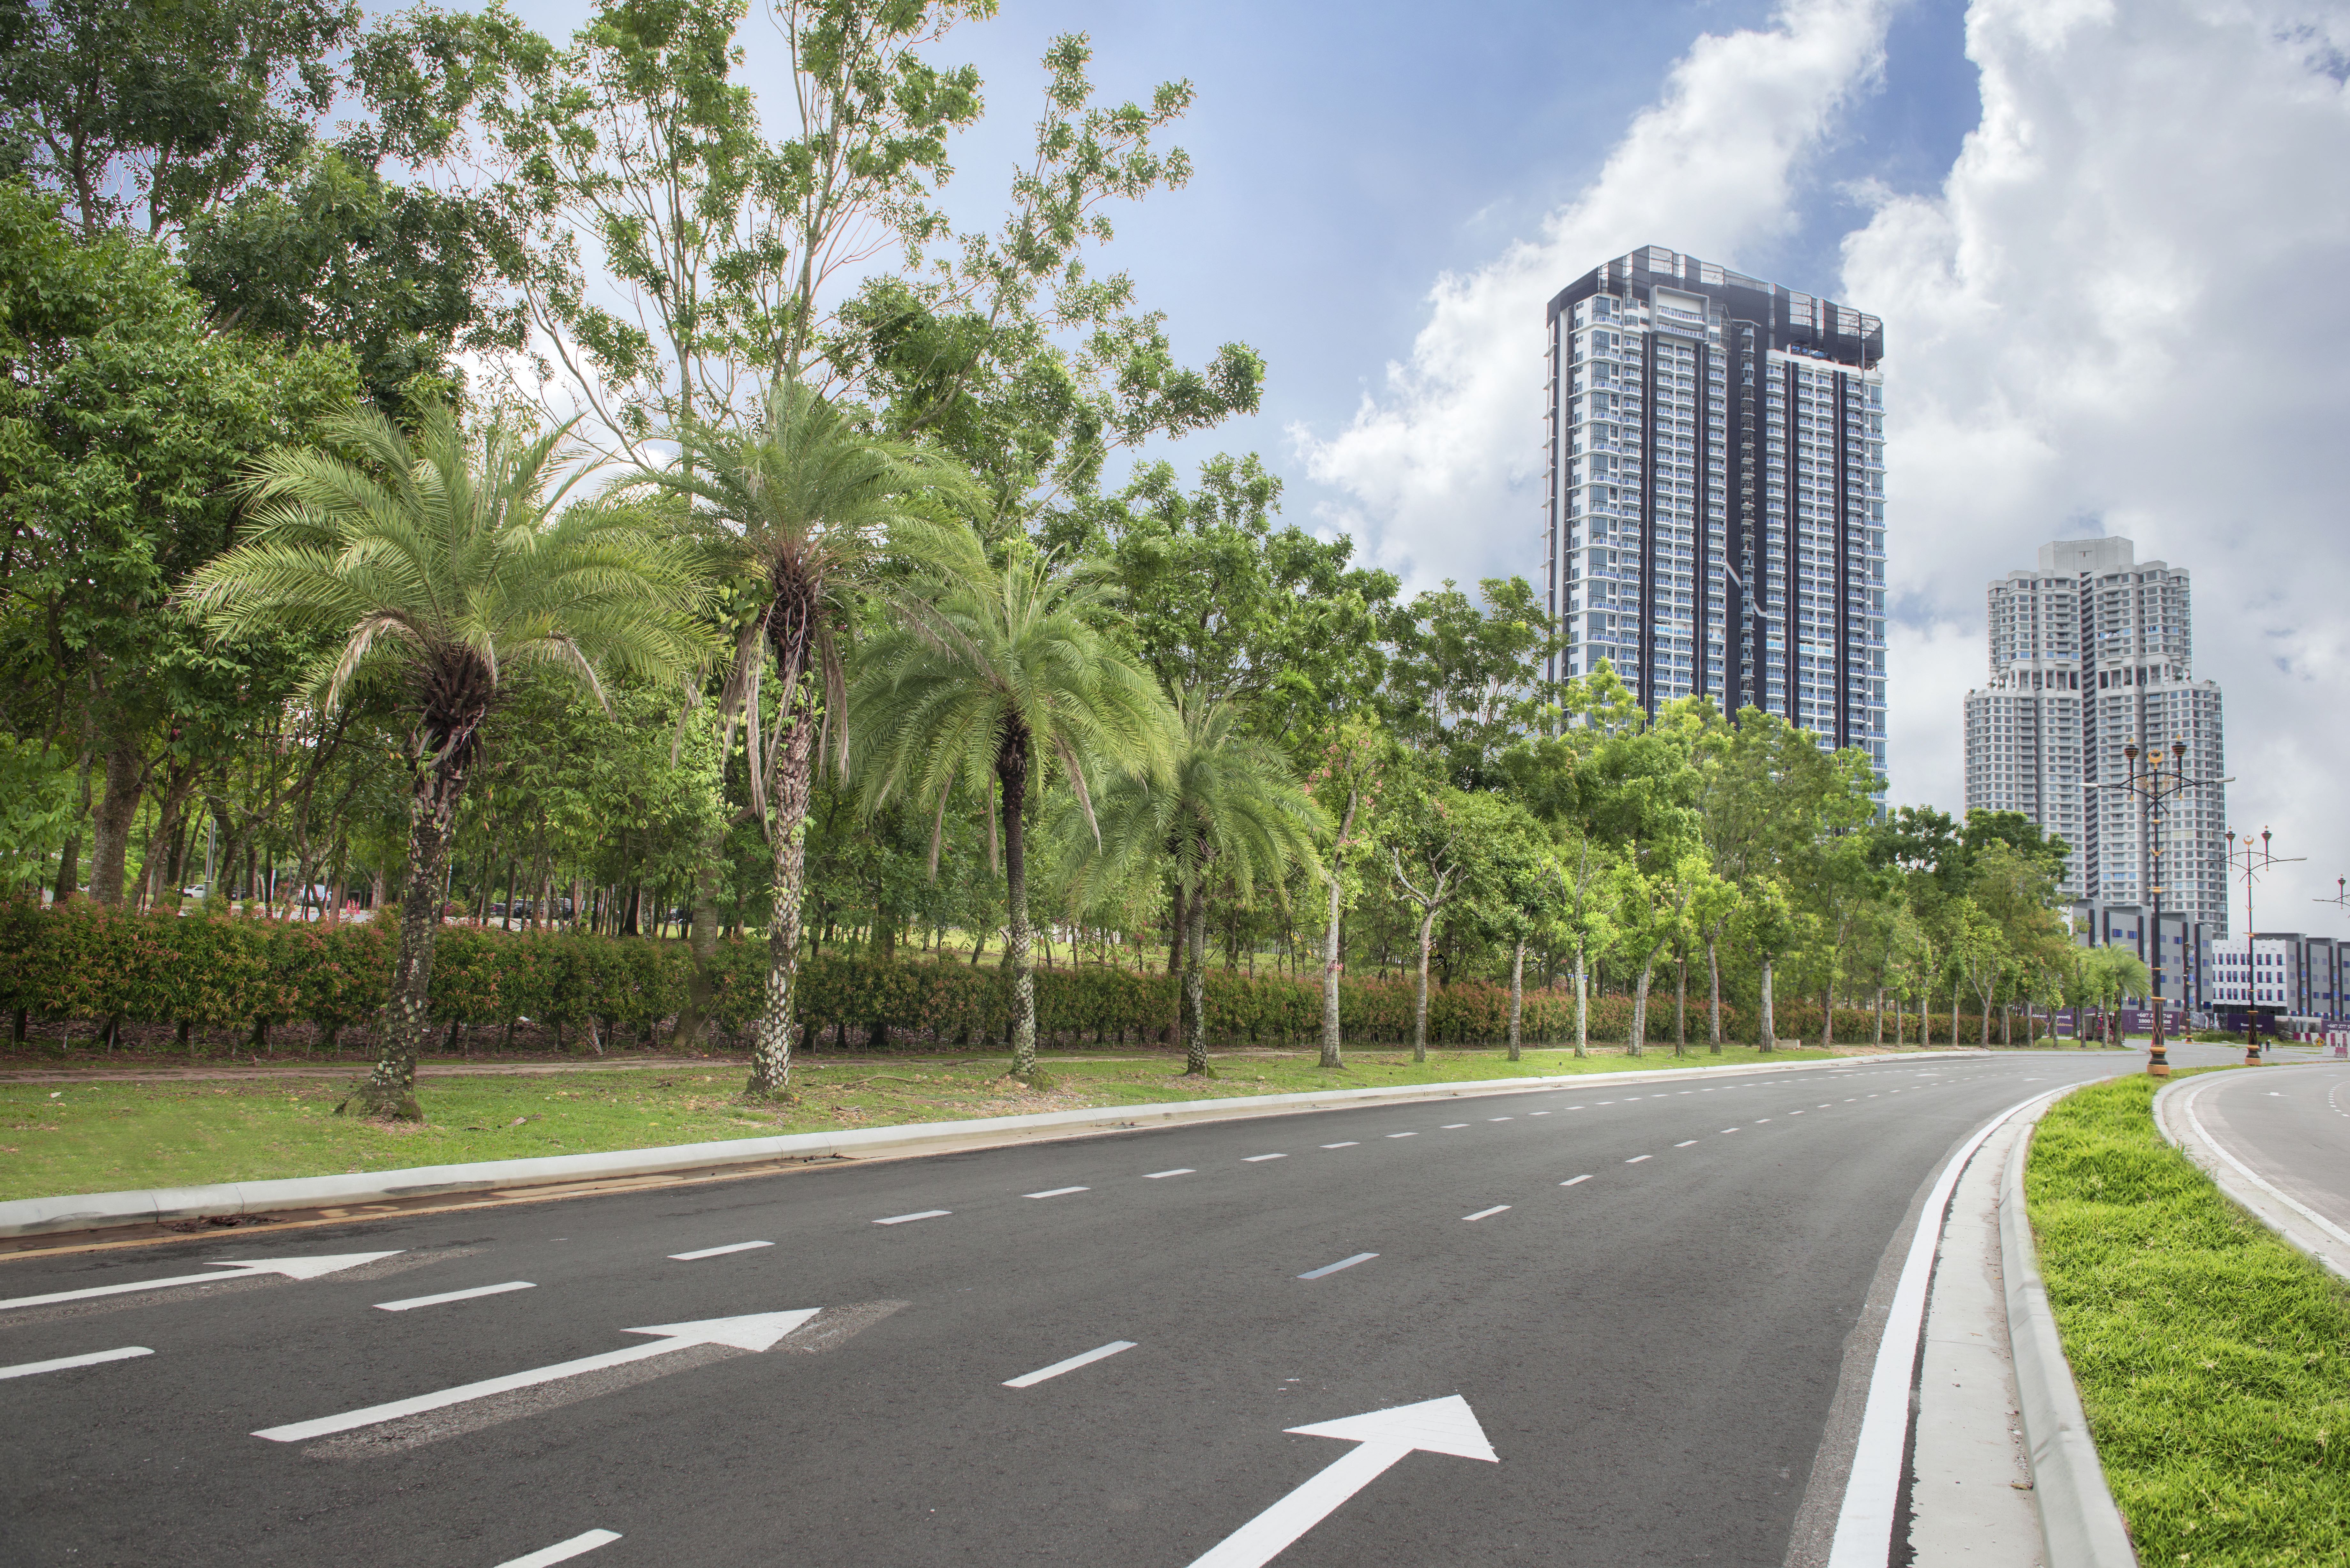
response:
[[[573,1542],[590,1568],[1184,1568],[1363,1453],[1281,1568],[1770,1568],[1934,1168],[2019,1100],[2131,1065],[1596,1077],[9,1260],[0,1300],[397,1248],[0,1307],[0,1561],[491,1568]],[[700,1331],[797,1324],[764,1354],[627,1333],[804,1309],[825,1312]],[[12,1375],[134,1347],[153,1354]],[[254,1436],[627,1347],[649,1349]],[[1450,1396],[1497,1462],[1415,1450],[1372,1474],[1377,1443],[1288,1432]],[[618,1540],[580,1544],[595,1530]]]

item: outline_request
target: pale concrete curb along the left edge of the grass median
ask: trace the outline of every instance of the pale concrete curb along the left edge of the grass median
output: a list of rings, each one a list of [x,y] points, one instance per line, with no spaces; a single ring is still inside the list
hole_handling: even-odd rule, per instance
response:
[[[2066,1091],[2070,1093],[2070,1091]],[[2113,1505],[2106,1467],[2080,1408],[2073,1366],[2063,1359],[2040,1248],[2023,1208],[2023,1168],[2033,1157],[2033,1131],[2052,1095],[2021,1112],[2023,1133],[2007,1154],[2000,1178],[2000,1272],[2007,1279],[2007,1342],[2016,1363],[2016,1403],[2023,1410],[2023,1443],[2033,1465],[2033,1500],[2040,1505],[2040,1540],[2049,1568],[2136,1568],[2122,1509]]]

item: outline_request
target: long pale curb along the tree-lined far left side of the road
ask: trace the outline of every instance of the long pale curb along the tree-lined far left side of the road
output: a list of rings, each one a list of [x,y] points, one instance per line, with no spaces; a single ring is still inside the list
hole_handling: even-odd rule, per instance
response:
[[[1737,1067],[1664,1067],[1643,1072],[1572,1072],[1542,1079],[1469,1079],[1462,1084],[1410,1084],[1396,1088],[1332,1088],[1285,1095],[1250,1095],[1238,1100],[1177,1100],[1170,1105],[1104,1105],[1095,1110],[1039,1112],[1032,1117],[975,1117],[968,1121],[914,1121],[907,1126],[870,1126],[839,1133],[787,1133],[783,1138],[728,1138],[724,1143],[679,1143],[660,1150],[611,1150],[604,1154],[548,1154],[540,1159],[484,1159],[461,1166],[411,1166],[404,1171],[360,1171],[352,1175],[296,1175],[268,1182],[226,1182],[216,1187],[157,1187],[143,1192],[85,1192],[47,1199],[12,1199],[0,1204],[0,1237],[35,1237],[63,1229],[106,1229],[113,1225],[153,1225],[157,1220],[193,1220],[204,1215],[270,1213],[280,1208],[324,1208],[343,1204],[383,1204],[392,1199],[439,1197],[449,1192],[503,1192],[618,1175],[665,1175],[684,1171],[719,1173],[773,1159],[855,1159],[877,1154],[945,1154],[1032,1138],[1083,1138],[1088,1133],[1126,1133],[1144,1126],[1187,1121],[1231,1121],[1243,1117],[1281,1117],[1309,1110],[1347,1110],[1363,1105],[1408,1105],[1415,1100],[1452,1100],[1459,1095],[1530,1093],[1570,1084],[1647,1084],[1657,1079],[1751,1077],[1758,1072],[1817,1072],[1866,1063],[1960,1060],[1976,1051],[1908,1051],[1901,1056],[1838,1056],[1814,1063],[1744,1063]]]

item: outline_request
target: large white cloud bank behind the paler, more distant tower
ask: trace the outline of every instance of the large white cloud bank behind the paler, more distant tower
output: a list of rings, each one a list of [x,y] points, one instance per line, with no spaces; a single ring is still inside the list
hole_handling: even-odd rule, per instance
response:
[[[2127,534],[2195,576],[2230,818],[2310,856],[2263,891],[2284,929],[2350,872],[2345,42],[2280,0],[1976,0],[1981,127],[1845,240],[1887,324],[1894,795],[1958,804],[1988,578]]]

